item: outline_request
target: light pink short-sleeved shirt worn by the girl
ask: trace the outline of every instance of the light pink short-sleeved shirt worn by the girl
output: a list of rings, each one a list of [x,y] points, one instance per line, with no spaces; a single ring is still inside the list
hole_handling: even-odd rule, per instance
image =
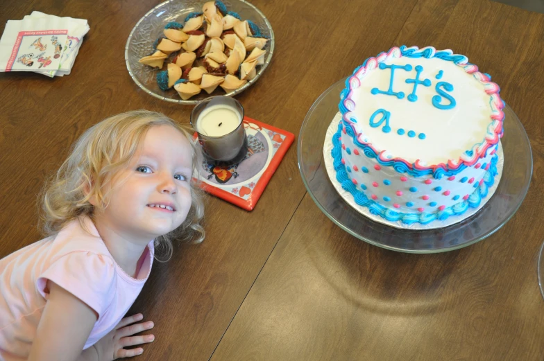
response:
[[[153,241],[140,258],[137,277],[115,263],[90,218],[73,220],[56,236],[44,238],[0,260],[0,360],[26,360],[49,293],[47,280],[74,294],[98,313],[84,349],[121,321],[147,281]]]

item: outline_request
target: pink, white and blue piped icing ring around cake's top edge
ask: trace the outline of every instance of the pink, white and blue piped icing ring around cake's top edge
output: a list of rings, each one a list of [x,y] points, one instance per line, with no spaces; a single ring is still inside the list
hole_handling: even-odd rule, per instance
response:
[[[486,137],[482,143],[477,144],[473,146],[472,149],[463,152],[461,157],[459,157],[459,160],[455,161],[453,159],[448,159],[446,164],[440,163],[432,166],[420,165],[419,159],[411,164],[409,161],[400,157],[387,158],[385,156],[386,150],[378,152],[375,150],[375,148],[373,148],[370,141],[359,141],[359,139],[355,137],[355,132],[353,131],[352,127],[352,123],[355,122],[350,120],[348,114],[355,105],[353,100],[351,100],[352,88],[350,80],[359,80],[356,77],[357,75],[360,75],[360,73],[365,73],[368,69],[375,69],[377,64],[383,62],[385,58],[389,58],[391,55],[396,55],[397,58],[400,56],[407,56],[409,58],[424,57],[427,59],[440,58],[454,62],[454,64],[458,65],[459,67],[463,67],[466,73],[473,75],[477,81],[484,85],[486,93],[490,96],[489,105],[491,107],[492,121],[488,125],[488,130],[492,130],[492,132],[488,132],[488,134],[486,134]],[[450,49],[436,51],[436,49],[434,49],[432,46],[426,46],[425,48],[419,49],[417,46],[407,47],[402,45],[400,48],[394,46],[393,48],[389,49],[387,53],[382,52],[375,58],[367,58],[361,66],[357,67],[355,71],[353,71],[352,75],[346,79],[346,87],[340,93],[340,103],[338,106],[342,114],[342,122],[345,125],[348,125],[348,130],[352,130],[352,132],[350,132],[350,136],[353,138],[354,143],[362,148],[366,157],[376,158],[377,162],[381,166],[393,166],[393,168],[396,168],[396,170],[398,168],[399,173],[408,173],[414,177],[432,174],[434,178],[440,179],[444,175],[457,175],[466,167],[473,166],[476,164],[478,159],[486,156],[486,152],[489,148],[498,143],[503,134],[502,121],[504,121],[504,112],[502,112],[502,109],[505,106],[504,101],[499,96],[499,92],[500,87],[496,83],[491,82],[491,77],[487,74],[480,73],[478,71],[478,67],[475,64],[470,64],[465,55],[454,54]],[[471,155],[467,155],[467,152],[469,152]]]

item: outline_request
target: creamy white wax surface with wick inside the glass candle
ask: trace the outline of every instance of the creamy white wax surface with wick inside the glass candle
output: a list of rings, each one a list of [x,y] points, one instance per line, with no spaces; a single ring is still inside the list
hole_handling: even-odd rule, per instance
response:
[[[196,131],[207,137],[222,137],[235,130],[241,123],[241,116],[235,108],[218,104],[207,107],[198,116]]]

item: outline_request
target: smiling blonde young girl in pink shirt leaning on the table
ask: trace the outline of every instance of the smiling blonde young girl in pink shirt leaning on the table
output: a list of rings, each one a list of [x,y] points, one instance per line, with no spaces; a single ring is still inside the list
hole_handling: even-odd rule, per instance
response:
[[[114,360],[153,335],[123,318],[142,290],[155,246],[196,234],[192,184],[200,148],[166,116],[136,111],[91,127],[46,185],[48,238],[0,260],[0,360]],[[130,326],[129,326],[130,325]]]

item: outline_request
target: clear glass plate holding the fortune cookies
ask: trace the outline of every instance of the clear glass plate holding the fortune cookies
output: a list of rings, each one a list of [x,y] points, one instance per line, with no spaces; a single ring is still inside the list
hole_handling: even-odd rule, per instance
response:
[[[205,0],[165,1],[149,10],[142,19],[139,19],[133,30],[130,32],[130,35],[128,35],[125,46],[126,68],[128,69],[130,77],[133,78],[138,87],[142,88],[146,93],[155,98],[166,100],[167,102],[184,105],[194,105],[198,103],[199,100],[207,98],[208,96],[224,94],[223,89],[217,87],[212,94],[201,91],[200,94],[193,96],[189,100],[182,100],[174,89],[162,91],[159,88],[157,81],[155,80],[158,70],[138,62],[138,60],[153,52],[153,42],[163,35],[162,30],[164,30],[166,24],[170,21],[178,21],[183,24],[185,17],[189,12],[201,12],[205,2]],[[264,70],[269,66],[272,54],[274,53],[274,33],[272,31],[272,26],[263,13],[247,1],[223,0],[223,3],[229,11],[237,12],[242,20],[253,21],[259,27],[261,33],[269,38],[269,41],[266,42],[266,46],[264,47],[264,50],[266,51],[264,54],[264,64],[257,66],[257,75],[255,78],[249,80],[245,85],[239,87],[235,91],[224,94],[226,96],[235,96],[256,82]],[[171,62],[174,56],[175,55],[171,54],[166,62]]]

